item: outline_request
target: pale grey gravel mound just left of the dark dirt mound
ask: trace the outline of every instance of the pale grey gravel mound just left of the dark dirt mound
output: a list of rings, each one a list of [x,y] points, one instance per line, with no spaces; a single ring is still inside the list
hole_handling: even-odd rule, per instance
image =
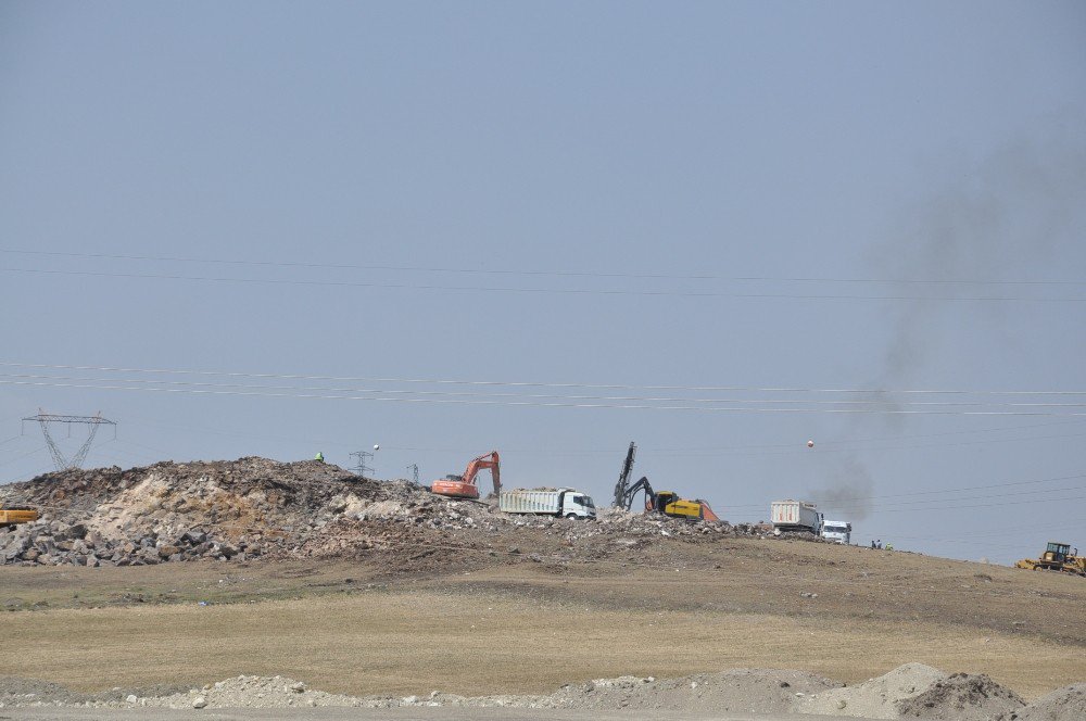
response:
[[[946,681],[947,674],[923,663],[906,663],[858,686],[824,691],[797,698],[794,711],[821,716],[850,716],[868,719],[901,718],[899,704]]]

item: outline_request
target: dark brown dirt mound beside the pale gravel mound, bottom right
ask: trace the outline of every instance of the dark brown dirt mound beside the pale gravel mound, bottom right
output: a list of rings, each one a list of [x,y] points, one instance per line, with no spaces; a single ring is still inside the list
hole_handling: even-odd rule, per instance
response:
[[[940,721],[986,721],[1023,706],[1025,701],[1013,691],[984,674],[969,673],[955,673],[919,696],[897,704],[902,717]]]

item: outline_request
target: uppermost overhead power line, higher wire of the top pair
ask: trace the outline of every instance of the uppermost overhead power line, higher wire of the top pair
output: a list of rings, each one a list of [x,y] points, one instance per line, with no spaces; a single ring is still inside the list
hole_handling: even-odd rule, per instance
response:
[[[629,278],[635,280],[719,280],[731,282],[823,282],[823,283],[885,283],[897,286],[1086,286],[1086,280],[982,280],[968,278],[855,278],[855,277],[795,277],[795,276],[724,276],[715,274],[662,273],[598,273],[591,270],[525,270],[512,268],[450,268],[415,265],[357,265],[350,263],[312,263],[303,261],[254,261],[227,258],[193,258],[168,255],[131,255],[111,253],[71,253],[62,251],[30,251],[0,248],[0,253],[43,257],[78,257],[109,261],[140,261],[153,263],[193,263],[201,265],[229,265],[273,268],[314,268],[320,270],[390,270],[402,273],[447,273],[465,275],[546,276],[559,278]]]

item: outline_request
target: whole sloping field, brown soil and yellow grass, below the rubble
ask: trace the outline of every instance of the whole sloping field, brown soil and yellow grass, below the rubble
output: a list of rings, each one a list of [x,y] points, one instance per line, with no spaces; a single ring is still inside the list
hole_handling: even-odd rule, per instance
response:
[[[0,633],[21,646],[0,674],[84,691],[241,673],[363,695],[731,668],[855,682],[908,661],[1028,698],[1086,679],[1082,579],[801,542],[406,578],[342,560],[4,568],[0,589]]]

